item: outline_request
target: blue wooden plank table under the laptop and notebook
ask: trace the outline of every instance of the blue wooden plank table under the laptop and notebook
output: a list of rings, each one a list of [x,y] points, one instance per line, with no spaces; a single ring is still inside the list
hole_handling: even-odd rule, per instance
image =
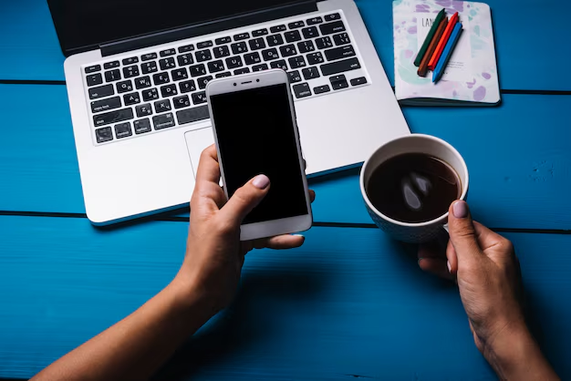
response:
[[[567,13],[554,0],[488,3],[502,106],[403,111],[413,132],[461,151],[472,212],[514,242],[534,334],[571,379]],[[392,5],[358,6],[394,83]],[[184,253],[186,212],[112,229],[86,219],[63,59],[44,0],[0,2],[0,378],[33,376],[130,314]],[[234,304],[161,378],[494,379],[455,287],[421,273],[414,247],[371,224],[358,170],[312,188],[306,244],[248,254]]]

